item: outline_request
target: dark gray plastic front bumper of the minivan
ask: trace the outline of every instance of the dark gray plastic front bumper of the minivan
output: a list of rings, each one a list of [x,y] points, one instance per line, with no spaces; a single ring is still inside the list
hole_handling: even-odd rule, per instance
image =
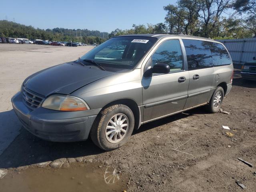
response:
[[[12,97],[12,106],[24,128],[39,138],[56,142],[86,140],[101,110],[62,112],[42,107],[31,110],[23,103],[20,92]]]

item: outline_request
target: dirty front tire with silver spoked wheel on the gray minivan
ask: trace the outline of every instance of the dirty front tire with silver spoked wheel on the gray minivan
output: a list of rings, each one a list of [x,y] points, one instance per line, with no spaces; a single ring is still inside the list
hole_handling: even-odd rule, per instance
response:
[[[117,116],[117,121],[115,121],[115,116]],[[119,119],[120,116],[122,116],[121,119]],[[117,122],[117,124],[121,123],[122,125],[126,126],[123,128],[121,128],[121,124],[114,126],[110,120],[112,120],[114,123]],[[96,144],[99,148],[110,151],[124,145],[130,138],[133,128],[134,115],[132,110],[126,105],[116,104],[100,112],[94,124],[92,125],[90,130],[90,137],[94,144]],[[124,130],[126,130],[125,133]],[[108,133],[107,136],[107,132],[111,132],[111,134]]]

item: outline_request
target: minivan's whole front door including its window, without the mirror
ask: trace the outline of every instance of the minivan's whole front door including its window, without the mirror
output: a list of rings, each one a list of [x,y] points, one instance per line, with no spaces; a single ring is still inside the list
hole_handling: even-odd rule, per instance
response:
[[[152,66],[166,63],[170,66],[170,73],[142,78],[143,122],[182,110],[188,96],[189,74],[184,71],[180,40],[164,41],[152,54],[149,63]]]

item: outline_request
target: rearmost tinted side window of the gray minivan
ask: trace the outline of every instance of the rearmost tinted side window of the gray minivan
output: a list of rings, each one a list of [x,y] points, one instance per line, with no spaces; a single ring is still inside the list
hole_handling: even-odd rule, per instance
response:
[[[214,66],[231,64],[228,52],[222,44],[209,42],[209,45],[212,52]]]

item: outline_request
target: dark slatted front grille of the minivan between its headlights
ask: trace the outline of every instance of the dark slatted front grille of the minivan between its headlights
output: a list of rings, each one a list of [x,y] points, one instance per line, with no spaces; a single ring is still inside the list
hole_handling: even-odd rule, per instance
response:
[[[37,94],[25,88],[24,86],[22,87],[22,97],[26,106],[28,106],[31,109],[38,108],[44,101],[44,97],[38,96]]]

